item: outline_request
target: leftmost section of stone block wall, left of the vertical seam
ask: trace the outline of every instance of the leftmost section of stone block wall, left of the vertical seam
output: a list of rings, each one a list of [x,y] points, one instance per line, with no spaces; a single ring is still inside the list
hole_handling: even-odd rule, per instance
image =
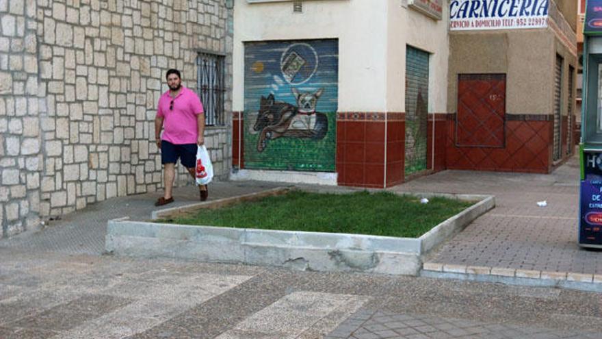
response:
[[[43,175],[35,1],[0,1],[0,220],[10,236],[40,225]]]

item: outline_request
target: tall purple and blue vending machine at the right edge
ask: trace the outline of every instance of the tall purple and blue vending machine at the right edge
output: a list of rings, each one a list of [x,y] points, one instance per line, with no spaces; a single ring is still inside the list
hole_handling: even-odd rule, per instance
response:
[[[602,248],[602,0],[587,0],[584,21],[579,246]]]

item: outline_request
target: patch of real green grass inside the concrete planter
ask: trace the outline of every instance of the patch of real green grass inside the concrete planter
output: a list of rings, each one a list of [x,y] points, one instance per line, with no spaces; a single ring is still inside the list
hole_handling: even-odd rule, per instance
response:
[[[291,191],[228,208],[200,210],[167,222],[418,238],[472,204],[441,197],[423,204],[417,197],[391,192],[319,194]]]

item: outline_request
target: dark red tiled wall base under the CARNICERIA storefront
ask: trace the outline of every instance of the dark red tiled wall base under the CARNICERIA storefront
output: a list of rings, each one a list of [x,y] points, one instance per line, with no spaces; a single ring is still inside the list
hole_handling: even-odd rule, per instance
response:
[[[553,123],[549,116],[507,116],[503,148],[457,147],[455,116],[447,117],[447,169],[525,173],[551,170]]]

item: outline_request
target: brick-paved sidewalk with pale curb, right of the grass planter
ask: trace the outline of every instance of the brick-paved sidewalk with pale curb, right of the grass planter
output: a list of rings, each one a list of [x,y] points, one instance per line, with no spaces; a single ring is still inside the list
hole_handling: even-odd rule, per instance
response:
[[[495,195],[495,209],[434,251],[427,270],[602,282],[602,252],[577,246],[577,156],[551,175],[445,171],[393,190]]]

